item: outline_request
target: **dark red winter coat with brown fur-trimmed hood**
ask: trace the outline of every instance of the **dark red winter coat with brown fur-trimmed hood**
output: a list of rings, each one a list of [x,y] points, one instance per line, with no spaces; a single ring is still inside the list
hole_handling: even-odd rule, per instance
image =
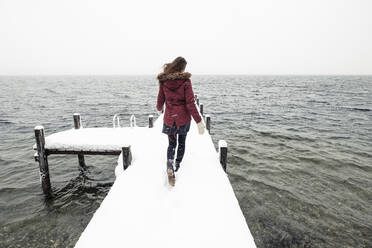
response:
[[[158,75],[160,81],[158,103],[156,108],[161,111],[165,102],[164,124],[177,127],[191,121],[201,121],[200,114],[195,106],[194,92],[192,90],[190,73],[171,73]]]

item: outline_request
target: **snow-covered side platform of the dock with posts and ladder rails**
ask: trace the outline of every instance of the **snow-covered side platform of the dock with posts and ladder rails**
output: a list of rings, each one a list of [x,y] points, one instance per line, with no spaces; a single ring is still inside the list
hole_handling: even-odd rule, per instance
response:
[[[39,162],[40,181],[43,192],[52,196],[49,176],[48,156],[52,154],[77,154],[81,170],[85,168],[84,155],[117,155],[123,159],[123,168],[131,163],[131,144],[135,140],[149,135],[153,127],[153,116],[149,116],[148,127],[136,126],[135,117],[131,117],[130,127],[120,127],[120,119],[114,116],[113,128],[83,128],[80,114],[75,113],[74,129],[51,134],[45,137],[44,127],[35,127],[36,144],[33,149],[35,161]]]

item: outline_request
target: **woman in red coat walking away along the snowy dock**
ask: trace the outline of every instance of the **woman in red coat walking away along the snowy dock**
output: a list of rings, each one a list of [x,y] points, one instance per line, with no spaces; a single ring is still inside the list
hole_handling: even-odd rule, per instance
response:
[[[158,75],[159,94],[157,109],[162,111],[165,103],[163,133],[168,135],[169,146],[167,150],[167,174],[169,184],[174,186],[174,172],[178,171],[185,153],[187,132],[190,129],[191,116],[198,125],[199,134],[204,133],[204,124],[195,106],[194,92],[192,90],[191,74],[184,72],[186,60],[177,57],[173,62],[164,65],[164,72]],[[177,157],[174,155],[177,146]],[[175,170],[173,168],[175,165]]]

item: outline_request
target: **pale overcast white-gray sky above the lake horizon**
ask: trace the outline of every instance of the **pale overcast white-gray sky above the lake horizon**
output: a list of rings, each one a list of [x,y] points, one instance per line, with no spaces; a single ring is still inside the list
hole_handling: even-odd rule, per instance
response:
[[[0,0],[0,75],[372,74],[370,0]]]

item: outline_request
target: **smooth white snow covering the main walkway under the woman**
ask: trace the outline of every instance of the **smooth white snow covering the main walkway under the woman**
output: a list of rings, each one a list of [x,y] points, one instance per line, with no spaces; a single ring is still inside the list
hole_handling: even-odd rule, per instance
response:
[[[176,185],[168,185],[162,119],[127,139],[132,164],[123,171],[119,156],[116,180],[75,248],[256,247],[212,139],[194,122]]]

